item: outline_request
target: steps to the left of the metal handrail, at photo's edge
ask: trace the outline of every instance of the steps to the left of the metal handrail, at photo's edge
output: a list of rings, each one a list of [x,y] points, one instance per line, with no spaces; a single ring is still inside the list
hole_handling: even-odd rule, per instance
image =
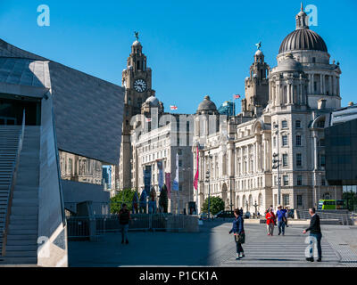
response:
[[[0,261],[3,250],[7,199],[12,183],[21,126],[0,126]]]

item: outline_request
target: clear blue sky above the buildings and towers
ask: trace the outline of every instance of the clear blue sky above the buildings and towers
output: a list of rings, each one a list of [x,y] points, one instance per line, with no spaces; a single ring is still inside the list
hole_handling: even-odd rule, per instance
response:
[[[37,26],[39,4],[50,7],[50,27]],[[357,1],[303,4],[317,6],[318,26],[312,29],[324,38],[331,61],[341,64],[342,105],[357,102]],[[166,110],[176,104],[180,113],[193,113],[205,94],[217,107],[232,94],[244,94],[255,43],[262,41],[265,60],[275,66],[299,9],[300,1],[0,0],[0,37],[121,85],[138,30],[157,97]]]

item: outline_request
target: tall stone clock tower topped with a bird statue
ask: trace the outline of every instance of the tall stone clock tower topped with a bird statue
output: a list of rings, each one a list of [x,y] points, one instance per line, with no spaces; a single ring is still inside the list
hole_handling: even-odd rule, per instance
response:
[[[152,89],[152,70],[146,66],[146,56],[143,46],[138,40],[131,45],[131,53],[127,61],[127,68],[122,71],[121,84],[125,87],[124,114],[120,145],[120,165],[116,171],[116,190],[131,188],[132,150],[130,141],[130,119],[141,113],[141,106],[145,100],[154,95]]]

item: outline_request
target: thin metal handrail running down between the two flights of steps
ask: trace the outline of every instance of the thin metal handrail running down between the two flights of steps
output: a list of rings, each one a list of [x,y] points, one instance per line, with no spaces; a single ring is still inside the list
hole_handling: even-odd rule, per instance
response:
[[[6,243],[7,243],[7,234],[9,232],[10,216],[11,216],[11,209],[12,209],[13,189],[15,188],[15,184],[16,184],[17,172],[19,170],[19,165],[20,165],[20,154],[22,151],[22,142],[23,142],[23,137],[25,135],[25,115],[26,115],[26,112],[24,109],[22,112],[21,133],[19,134],[19,143],[17,145],[15,166],[13,167],[13,173],[12,173],[12,183],[10,186],[9,195],[7,197],[7,208],[6,208],[6,218],[5,218],[5,224],[4,224],[2,256],[5,256],[5,254],[6,254]]]

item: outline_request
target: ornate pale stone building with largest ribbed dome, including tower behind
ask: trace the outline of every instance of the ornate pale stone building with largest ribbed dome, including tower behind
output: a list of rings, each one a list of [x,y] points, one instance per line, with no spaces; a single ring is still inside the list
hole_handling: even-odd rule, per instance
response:
[[[198,106],[193,157],[195,175],[198,152],[199,208],[209,192],[227,209],[251,213],[341,198],[342,188],[328,186],[324,168],[324,127],[340,108],[341,70],[329,62],[327,45],[307,25],[303,9],[295,20],[277,67],[270,69],[260,49],[254,54],[240,114],[219,119],[208,96]]]

